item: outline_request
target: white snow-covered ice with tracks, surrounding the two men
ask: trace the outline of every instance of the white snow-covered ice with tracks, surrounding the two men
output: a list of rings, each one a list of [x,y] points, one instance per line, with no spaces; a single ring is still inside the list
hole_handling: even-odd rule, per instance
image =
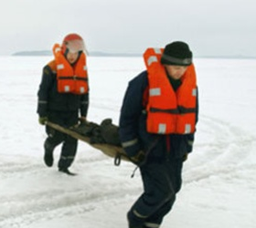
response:
[[[0,57],[0,227],[121,228],[142,192],[139,171],[80,141],[70,177],[43,162],[37,88],[51,57]],[[253,228],[256,224],[256,59],[197,58],[200,115],[183,187],[163,228]],[[88,119],[118,123],[141,57],[89,57]]]

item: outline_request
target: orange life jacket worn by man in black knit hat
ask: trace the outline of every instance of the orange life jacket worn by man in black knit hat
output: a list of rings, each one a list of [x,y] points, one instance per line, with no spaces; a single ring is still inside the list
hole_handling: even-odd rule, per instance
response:
[[[144,52],[149,93],[146,106],[147,131],[156,134],[188,134],[196,129],[197,79],[194,65],[187,67],[176,91],[167,78],[160,59],[163,49]]]

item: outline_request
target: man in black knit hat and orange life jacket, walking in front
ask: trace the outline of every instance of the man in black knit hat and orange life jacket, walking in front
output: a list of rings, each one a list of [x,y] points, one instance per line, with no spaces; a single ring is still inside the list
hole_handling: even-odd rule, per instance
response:
[[[138,166],[144,192],[127,213],[129,228],[158,228],[181,188],[193,149],[198,102],[192,52],[181,41],[144,52],[146,70],[130,81],[119,133]]]

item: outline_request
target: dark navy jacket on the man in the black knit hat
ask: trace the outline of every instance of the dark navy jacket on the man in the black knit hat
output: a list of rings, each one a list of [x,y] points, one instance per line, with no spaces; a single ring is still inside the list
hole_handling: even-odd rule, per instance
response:
[[[173,85],[173,87],[176,86]],[[144,71],[129,82],[123,98],[119,134],[122,143],[126,144],[123,145],[124,150],[129,156],[134,156],[139,150],[144,150],[148,153],[149,161],[162,161],[168,156],[184,157],[186,153],[192,151],[194,133],[160,135],[146,131],[146,113],[144,111],[144,90],[146,88],[148,88],[148,78],[147,72]]]

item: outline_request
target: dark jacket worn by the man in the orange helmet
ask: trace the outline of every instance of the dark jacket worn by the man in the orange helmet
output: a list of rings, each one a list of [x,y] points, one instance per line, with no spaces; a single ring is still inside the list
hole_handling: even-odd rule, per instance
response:
[[[37,92],[37,113],[47,117],[51,111],[78,111],[86,117],[89,107],[89,93],[76,95],[59,93],[57,89],[57,74],[48,65],[43,68],[43,76]]]

